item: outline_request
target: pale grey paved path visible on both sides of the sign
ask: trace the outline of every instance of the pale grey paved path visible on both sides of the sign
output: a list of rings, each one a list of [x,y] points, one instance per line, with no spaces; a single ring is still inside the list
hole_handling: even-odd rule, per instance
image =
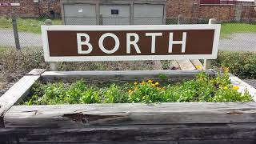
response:
[[[41,34],[19,33],[21,46],[42,46]],[[12,30],[0,30],[0,46],[15,46]],[[221,39],[219,50],[256,51],[256,33],[233,34],[230,39]]]

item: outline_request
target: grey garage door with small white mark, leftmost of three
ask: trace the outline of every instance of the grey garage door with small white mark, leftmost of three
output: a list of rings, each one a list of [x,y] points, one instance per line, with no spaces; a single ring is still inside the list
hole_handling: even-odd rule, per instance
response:
[[[96,25],[96,6],[91,4],[65,4],[66,25]]]

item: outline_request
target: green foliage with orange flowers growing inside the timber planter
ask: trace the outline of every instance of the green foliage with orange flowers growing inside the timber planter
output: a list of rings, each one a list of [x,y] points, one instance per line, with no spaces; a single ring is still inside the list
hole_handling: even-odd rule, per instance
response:
[[[123,103],[123,102],[251,102],[247,92],[238,93],[229,76],[219,73],[210,77],[202,72],[196,78],[174,84],[160,84],[153,80],[134,84],[90,85],[80,80],[72,84],[36,83],[26,105],[76,104],[76,103]]]

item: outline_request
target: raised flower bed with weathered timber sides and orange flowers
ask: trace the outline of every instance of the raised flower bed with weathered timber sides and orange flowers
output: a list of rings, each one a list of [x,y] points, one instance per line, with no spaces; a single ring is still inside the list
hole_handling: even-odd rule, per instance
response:
[[[0,98],[0,143],[250,143],[255,92],[214,70],[32,70]]]

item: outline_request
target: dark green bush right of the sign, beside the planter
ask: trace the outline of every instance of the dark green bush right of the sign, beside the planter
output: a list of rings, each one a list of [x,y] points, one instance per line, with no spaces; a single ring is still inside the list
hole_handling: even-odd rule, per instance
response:
[[[255,52],[228,52],[221,51],[213,66],[226,67],[230,73],[239,78],[256,79],[256,53]]]

